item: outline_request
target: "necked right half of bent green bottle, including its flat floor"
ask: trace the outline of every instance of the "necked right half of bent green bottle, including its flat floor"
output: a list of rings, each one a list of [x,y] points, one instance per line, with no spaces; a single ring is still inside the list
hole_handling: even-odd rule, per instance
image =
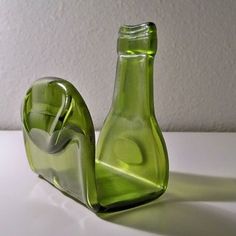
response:
[[[101,211],[148,202],[167,188],[167,150],[153,105],[156,50],[155,24],[120,28],[113,103],[96,150]]]

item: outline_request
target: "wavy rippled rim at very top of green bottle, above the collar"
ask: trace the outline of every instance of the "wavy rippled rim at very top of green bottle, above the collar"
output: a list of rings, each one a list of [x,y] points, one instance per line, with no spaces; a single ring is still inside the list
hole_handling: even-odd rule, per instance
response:
[[[123,25],[119,29],[119,38],[137,39],[156,37],[156,25],[146,22],[138,25]]]

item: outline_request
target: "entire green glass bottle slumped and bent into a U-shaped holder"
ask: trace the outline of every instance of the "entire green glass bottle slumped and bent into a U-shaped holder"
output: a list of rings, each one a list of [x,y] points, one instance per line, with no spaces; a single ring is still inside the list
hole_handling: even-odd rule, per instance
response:
[[[122,26],[112,107],[99,136],[79,92],[59,78],[37,80],[22,106],[33,171],[93,211],[134,207],[162,195],[168,182],[165,141],[155,118],[153,23]]]

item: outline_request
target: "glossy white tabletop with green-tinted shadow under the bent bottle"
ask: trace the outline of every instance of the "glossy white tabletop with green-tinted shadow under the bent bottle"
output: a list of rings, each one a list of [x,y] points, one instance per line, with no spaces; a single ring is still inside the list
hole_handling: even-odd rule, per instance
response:
[[[0,132],[0,235],[236,235],[236,133],[164,133],[167,192],[98,217],[34,174],[22,133]]]

